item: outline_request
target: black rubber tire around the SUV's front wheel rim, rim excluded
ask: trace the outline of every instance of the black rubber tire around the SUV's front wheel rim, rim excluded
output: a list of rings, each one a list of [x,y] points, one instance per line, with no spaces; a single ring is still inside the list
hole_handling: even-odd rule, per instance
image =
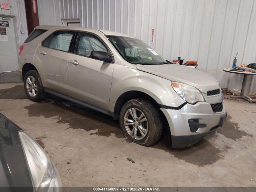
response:
[[[137,108],[141,112],[144,113],[144,116],[147,119],[147,133],[144,138],[138,140],[130,136],[130,134],[127,132],[126,127],[124,125],[124,117],[126,112],[130,108]],[[130,119],[130,118],[129,118]],[[144,100],[144,99],[132,99],[124,104],[120,111],[120,116],[119,116],[119,122],[120,122],[120,127],[122,128],[122,132],[126,138],[131,140],[132,142],[135,142],[137,144],[143,145],[143,146],[152,146],[156,144],[162,135],[162,130],[163,130],[163,124],[162,120],[159,114],[158,109],[149,101]],[[131,132],[132,128],[134,125],[129,126]],[[140,133],[137,133],[140,134]]]

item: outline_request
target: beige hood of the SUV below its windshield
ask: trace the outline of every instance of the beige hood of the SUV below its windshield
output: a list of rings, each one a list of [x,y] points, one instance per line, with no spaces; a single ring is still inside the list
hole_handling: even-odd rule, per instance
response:
[[[137,64],[136,68],[150,74],[160,76],[162,78],[189,84],[198,88],[202,93],[208,90],[220,88],[218,80],[202,71],[181,66],[177,64],[163,64],[163,65],[142,65]]]

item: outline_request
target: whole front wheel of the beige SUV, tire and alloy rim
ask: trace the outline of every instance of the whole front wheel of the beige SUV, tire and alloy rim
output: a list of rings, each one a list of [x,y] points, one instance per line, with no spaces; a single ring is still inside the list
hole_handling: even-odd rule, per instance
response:
[[[133,118],[134,110],[137,120]],[[124,136],[143,146],[156,144],[162,135],[163,124],[159,111],[144,99],[132,99],[126,102],[120,111],[119,122]]]

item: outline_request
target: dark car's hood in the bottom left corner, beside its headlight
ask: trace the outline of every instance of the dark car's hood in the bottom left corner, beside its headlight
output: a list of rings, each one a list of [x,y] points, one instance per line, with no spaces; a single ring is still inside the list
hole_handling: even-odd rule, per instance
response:
[[[11,186],[26,186],[30,187],[26,191],[33,191],[18,131],[22,130],[0,113],[0,186],[7,187],[6,191]]]

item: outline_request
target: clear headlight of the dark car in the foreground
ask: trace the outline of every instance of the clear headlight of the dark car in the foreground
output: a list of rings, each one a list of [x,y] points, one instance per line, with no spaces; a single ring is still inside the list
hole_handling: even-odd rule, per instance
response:
[[[36,192],[62,191],[60,176],[46,152],[28,134],[18,133]]]

